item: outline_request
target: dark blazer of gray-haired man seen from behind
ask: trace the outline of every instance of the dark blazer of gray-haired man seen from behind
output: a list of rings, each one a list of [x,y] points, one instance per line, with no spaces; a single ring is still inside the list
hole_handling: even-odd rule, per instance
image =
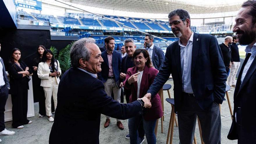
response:
[[[57,97],[50,144],[97,144],[101,113],[122,120],[142,114],[140,102],[120,104],[106,94],[102,81],[78,68],[63,74]]]

